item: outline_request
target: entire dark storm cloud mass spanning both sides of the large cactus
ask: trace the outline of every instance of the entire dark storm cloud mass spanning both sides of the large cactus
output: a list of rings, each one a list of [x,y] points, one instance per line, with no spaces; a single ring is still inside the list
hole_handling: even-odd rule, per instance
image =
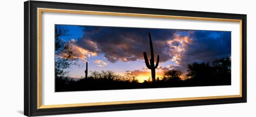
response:
[[[83,36],[74,44],[103,54],[111,63],[143,59],[143,52],[150,58],[148,32],[151,33],[155,59],[174,61],[177,65],[163,66],[165,70],[185,71],[194,62],[211,62],[216,58],[230,57],[231,32],[174,29],[84,26]]]

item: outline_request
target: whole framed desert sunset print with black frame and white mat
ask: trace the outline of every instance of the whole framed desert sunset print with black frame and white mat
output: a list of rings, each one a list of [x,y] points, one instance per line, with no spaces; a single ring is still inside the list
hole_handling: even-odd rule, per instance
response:
[[[24,3],[24,115],[246,102],[246,15]]]

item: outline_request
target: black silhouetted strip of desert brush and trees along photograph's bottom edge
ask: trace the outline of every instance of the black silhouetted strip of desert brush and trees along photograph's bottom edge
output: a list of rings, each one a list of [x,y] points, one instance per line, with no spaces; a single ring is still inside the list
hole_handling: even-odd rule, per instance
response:
[[[125,75],[116,74],[114,71],[90,71],[88,78],[73,79],[61,77],[55,82],[55,91],[92,91],[92,90],[117,90],[141,89],[186,86],[212,86],[231,84],[230,58],[216,59],[211,63],[193,63],[188,65],[187,79],[180,76],[182,71],[166,71],[162,78],[151,78],[139,83],[131,72]]]

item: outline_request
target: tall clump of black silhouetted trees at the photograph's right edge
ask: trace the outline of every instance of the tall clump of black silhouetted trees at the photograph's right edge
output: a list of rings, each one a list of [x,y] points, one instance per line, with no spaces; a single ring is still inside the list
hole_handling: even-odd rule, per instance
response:
[[[231,84],[230,58],[216,59],[209,63],[193,63],[188,65],[188,76],[194,84],[214,85]]]

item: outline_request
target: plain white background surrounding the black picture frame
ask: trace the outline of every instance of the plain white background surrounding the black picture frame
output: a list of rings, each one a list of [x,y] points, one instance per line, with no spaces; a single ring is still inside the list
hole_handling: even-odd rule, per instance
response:
[[[54,117],[255,117],[256,8],[254,0],[54,0],[128,7],[247,14],[248,103],[99,112]],[[23,116],[23,0],[0,4],[0,117]]]

